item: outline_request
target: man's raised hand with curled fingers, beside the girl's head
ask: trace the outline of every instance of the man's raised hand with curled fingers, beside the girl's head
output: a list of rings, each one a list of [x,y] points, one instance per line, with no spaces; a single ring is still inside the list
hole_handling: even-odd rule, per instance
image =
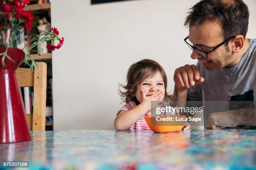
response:
[[[178,91],[187,90],[189,87],[194,87],[204,81],[200,77],[198,67],[196,65],[184,65],[179,67],[174,72],[175,87]]]

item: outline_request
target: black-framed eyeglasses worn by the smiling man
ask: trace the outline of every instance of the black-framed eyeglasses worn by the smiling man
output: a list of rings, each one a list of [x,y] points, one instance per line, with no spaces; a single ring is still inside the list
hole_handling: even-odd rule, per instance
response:
[[[220,44],[216,45],[215,47],[213,47],[211,50],[207,50],[207,51],[203,51],[203,50],[200,50],[198,49],[197,47],[194,47],[193,46],[193,43],[191,41],[189,41],[188,39],[189,36],[187,36],[184,41],[186,42],[187,46],[189,46],[189,48],[191,50],[195,50],[199,55],[201,55],[202,57],[208,57],[208,54],[210,52],[212,52],[213,50],[216,50],[218,47],[220,47],[221,45],[225,44],[225,42],[228,42],[229,40],[231,40],[232,38],[236,37],[235,35],[234,36],[231,36],[229,38],[227,38],[226,40],[224,40],[223,42],[221,42]]]

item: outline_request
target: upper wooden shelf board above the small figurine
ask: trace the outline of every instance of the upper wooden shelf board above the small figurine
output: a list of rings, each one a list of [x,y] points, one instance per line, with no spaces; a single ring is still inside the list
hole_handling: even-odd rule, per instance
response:
[[[43,4],[32,4],[24,7],[24,10],[31,11],[33,14],[46,13],[51,9],[51,3]],[[3,15],[3,12],[0,12],[0,15]]]

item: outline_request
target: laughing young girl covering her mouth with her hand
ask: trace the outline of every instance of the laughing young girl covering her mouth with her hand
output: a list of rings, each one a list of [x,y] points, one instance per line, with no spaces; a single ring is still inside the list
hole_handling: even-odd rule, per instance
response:
[[[126,91],[119,94],[126,104],[118,111],[116,130],[150,130],[144,116],[151,115],[151,101],[170,101],[167,94],[167,77],[163,67],[154,60],[141,60],[129,67]]]

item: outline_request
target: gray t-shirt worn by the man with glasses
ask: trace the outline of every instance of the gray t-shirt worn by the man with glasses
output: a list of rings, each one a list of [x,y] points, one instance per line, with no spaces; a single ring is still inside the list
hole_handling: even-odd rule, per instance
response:
[[[187,100],[227,101],[224,104],[230,100],[250,100],[256,105],[256,39],[250,40],[247,52],[233,67],[208,71],[201,62],[197,62],[197,67],[205,81],[189,88]],[[209,114],[204,113],[205,125]]]

